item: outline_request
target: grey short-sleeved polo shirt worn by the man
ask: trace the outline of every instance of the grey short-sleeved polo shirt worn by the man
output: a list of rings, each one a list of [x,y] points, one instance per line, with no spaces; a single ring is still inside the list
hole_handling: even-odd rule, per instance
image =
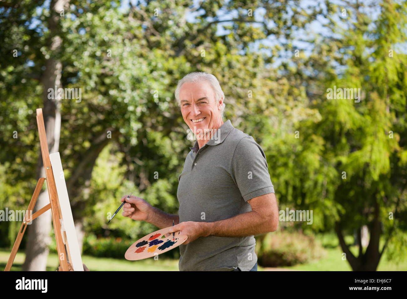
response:
[[[247,201],[274,193],[266,156],[252,136],[224,122],[204,146],[190,148],[178,177],[179,222],[214,222],[250,212]],[[249,225],[249,223],[248,223]],[[180,271],[249,271],[254,236],[201,237],[179,246]]]

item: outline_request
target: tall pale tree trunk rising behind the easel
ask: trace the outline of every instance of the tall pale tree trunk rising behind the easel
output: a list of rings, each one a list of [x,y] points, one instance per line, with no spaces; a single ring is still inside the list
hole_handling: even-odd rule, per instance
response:
[[[48,21],[48,29],[50,38],[47,41],[47,46],[51,52],[58,52],[62,39],[58,36],[57,24],[59,22],[59,13],[66,8],[67,0],[52,0],[50,3],[51,16]],[[61,114],[60,114],[60,99],[58,93],[54,94],[53,99],[48,99],[48,88],[54,89],[61,87],[61,61],[50,57],[45,63],[46,70],[42,76],[42,85],[44,88],[43,99],[43,116],[45,132],[48,142],[49,153],[55,153],[59,150],[59,136],[61,129]],[[37,179],[46,177],[42,154],[40,152],[37,163]],[[38,196],[37,203],[34,207],[34,212],[50,203],[48,190],[41,192]],[[26,245],[26,259],[23,264],[23,271],[45,271],[48,258],[48,244],[50,244],[50,229],[51,229],[51,211],[48,210],[28,226],[28,240]]]

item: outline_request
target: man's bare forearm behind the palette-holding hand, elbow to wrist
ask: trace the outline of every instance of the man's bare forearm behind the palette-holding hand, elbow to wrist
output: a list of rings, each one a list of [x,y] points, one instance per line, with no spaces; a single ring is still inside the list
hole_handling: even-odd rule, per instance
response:
[[[232,218],[203,223],[204,237],[245,237],[272,231],[269,219],[255,211],[236,215]]]

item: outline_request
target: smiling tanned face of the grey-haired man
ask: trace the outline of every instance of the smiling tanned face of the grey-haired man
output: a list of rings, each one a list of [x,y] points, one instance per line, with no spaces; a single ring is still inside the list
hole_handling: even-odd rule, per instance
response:
[[[207,81],[184,83],[179,99],[182,117],[194,133],[198,129],[205,132],[206,129],[218,129],[221,126],[223,99],[215,103],[215,93]],[[196,120],[200,121],[194,122]]]

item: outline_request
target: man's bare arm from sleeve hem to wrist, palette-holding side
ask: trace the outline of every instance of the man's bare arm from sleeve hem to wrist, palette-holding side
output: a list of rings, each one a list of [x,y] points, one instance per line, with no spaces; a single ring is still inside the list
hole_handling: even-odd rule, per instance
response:
[[[203,223],[203,237],[244,237],[276,231],[278,228],[278,206],[274,193],[257,196],[247,201],[251,212],[232,218]]]

